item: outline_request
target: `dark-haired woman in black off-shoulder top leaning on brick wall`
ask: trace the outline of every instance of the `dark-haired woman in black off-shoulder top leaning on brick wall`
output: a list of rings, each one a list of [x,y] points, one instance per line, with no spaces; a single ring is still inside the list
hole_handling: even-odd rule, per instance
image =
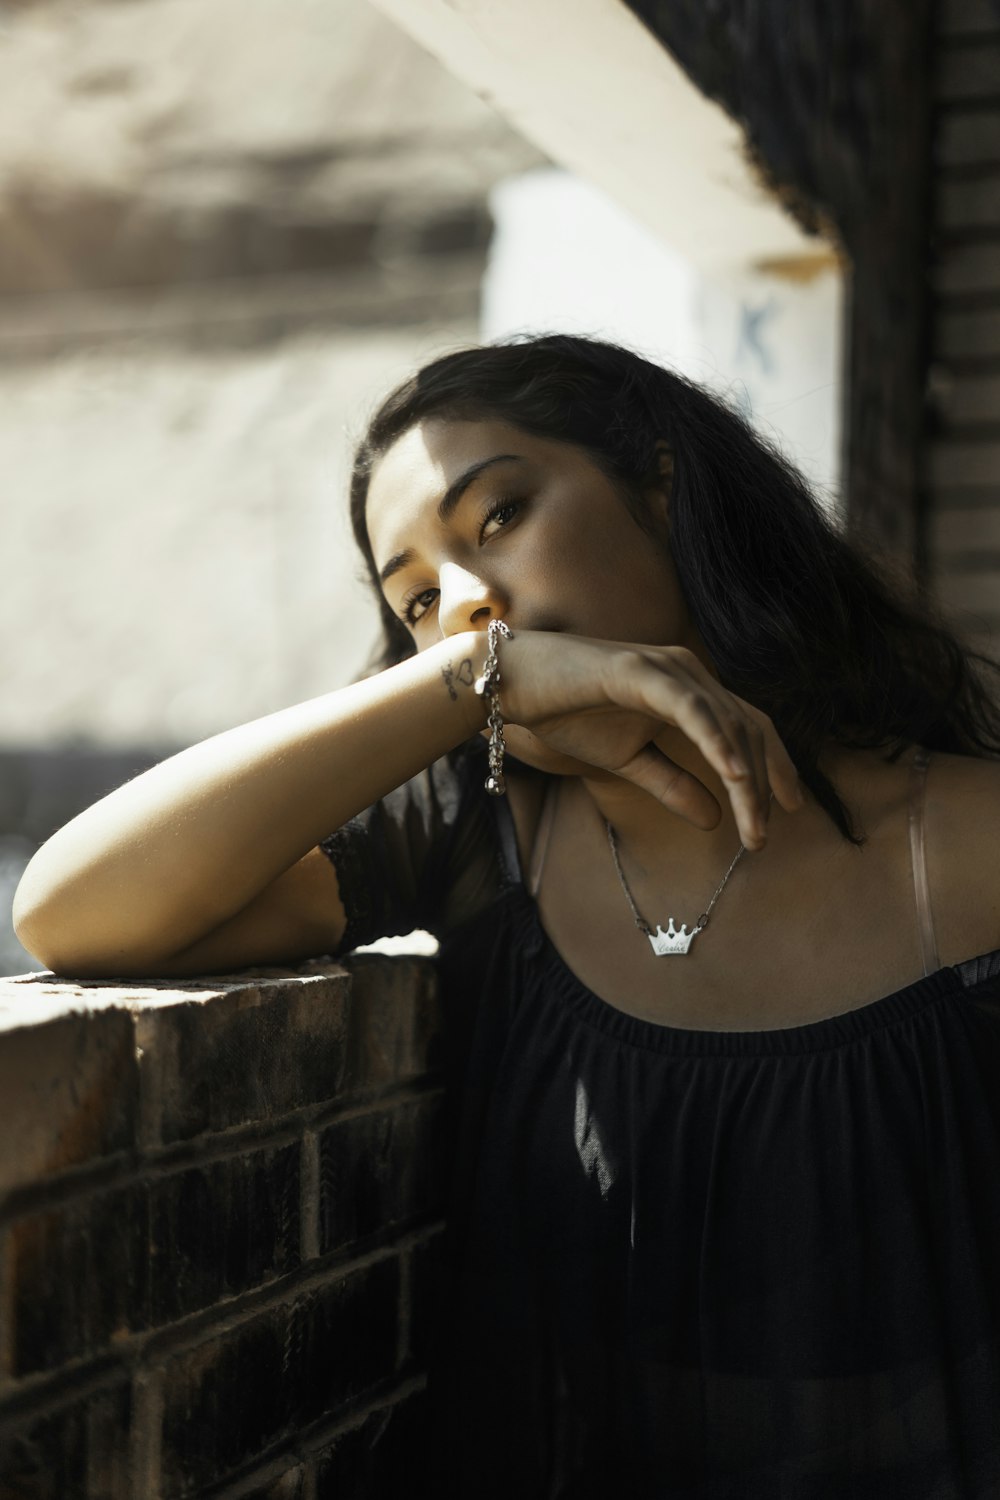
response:
[[[421,370],[352,513],[384,670],[81,814],[21,940],[439,936],[439,1492],[1000,1494],[993,663],[594,340]]]

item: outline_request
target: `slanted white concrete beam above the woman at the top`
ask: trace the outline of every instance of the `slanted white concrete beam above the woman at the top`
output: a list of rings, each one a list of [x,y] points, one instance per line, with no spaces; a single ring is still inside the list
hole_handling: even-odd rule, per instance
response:
[[[742,130],[621,0],[372,0],[561,166],[694,262],[811,256]]]

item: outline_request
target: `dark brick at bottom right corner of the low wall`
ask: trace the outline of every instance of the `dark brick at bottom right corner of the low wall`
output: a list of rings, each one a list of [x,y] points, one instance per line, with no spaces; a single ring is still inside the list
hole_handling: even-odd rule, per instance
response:
[[[316,1500],[400,1500],[426,1476],[423,1390],[372,1412],[316,1461]]]

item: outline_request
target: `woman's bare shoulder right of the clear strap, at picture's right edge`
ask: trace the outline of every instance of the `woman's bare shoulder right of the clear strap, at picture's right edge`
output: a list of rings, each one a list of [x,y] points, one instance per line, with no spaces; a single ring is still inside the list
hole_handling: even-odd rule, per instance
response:
[[[934,752],[927,870],[942,963],[1000,948],[1000,760]]]

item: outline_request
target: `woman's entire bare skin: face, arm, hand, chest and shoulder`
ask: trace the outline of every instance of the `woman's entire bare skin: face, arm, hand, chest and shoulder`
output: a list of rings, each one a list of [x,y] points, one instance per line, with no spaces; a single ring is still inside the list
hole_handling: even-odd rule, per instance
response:
[[[667,1024],[744,1029],[919,978],[910,758],[835,742],[819,758],[867,836],[862,856],[802,798],[771,718],[714,670],[672,561],[666,442],[658,456],[640,525],[577,447],[505,423],[432,422],[402,436],[375,465],[367,520],[417,654],[192,746],[85,808],[18,886],[25,946],[90,976],[228,974],[337,951],[346,914],[319,840],[483,730],[472,681],[486,627],[504,618],[516,633],[501,645],[504,806],[522,858],[546,850],[537,912],[592,993]],[[448,492],[456,504],[439,513]],[[747,765],[730,765],[736,752]],[[927,848],[945,964],[997,946],[999,810],[994,759],[934,753]],[[664,972],[639,940],[601,814],[649,921],[694,921],[739,843],[751,850],[690,963]]]

